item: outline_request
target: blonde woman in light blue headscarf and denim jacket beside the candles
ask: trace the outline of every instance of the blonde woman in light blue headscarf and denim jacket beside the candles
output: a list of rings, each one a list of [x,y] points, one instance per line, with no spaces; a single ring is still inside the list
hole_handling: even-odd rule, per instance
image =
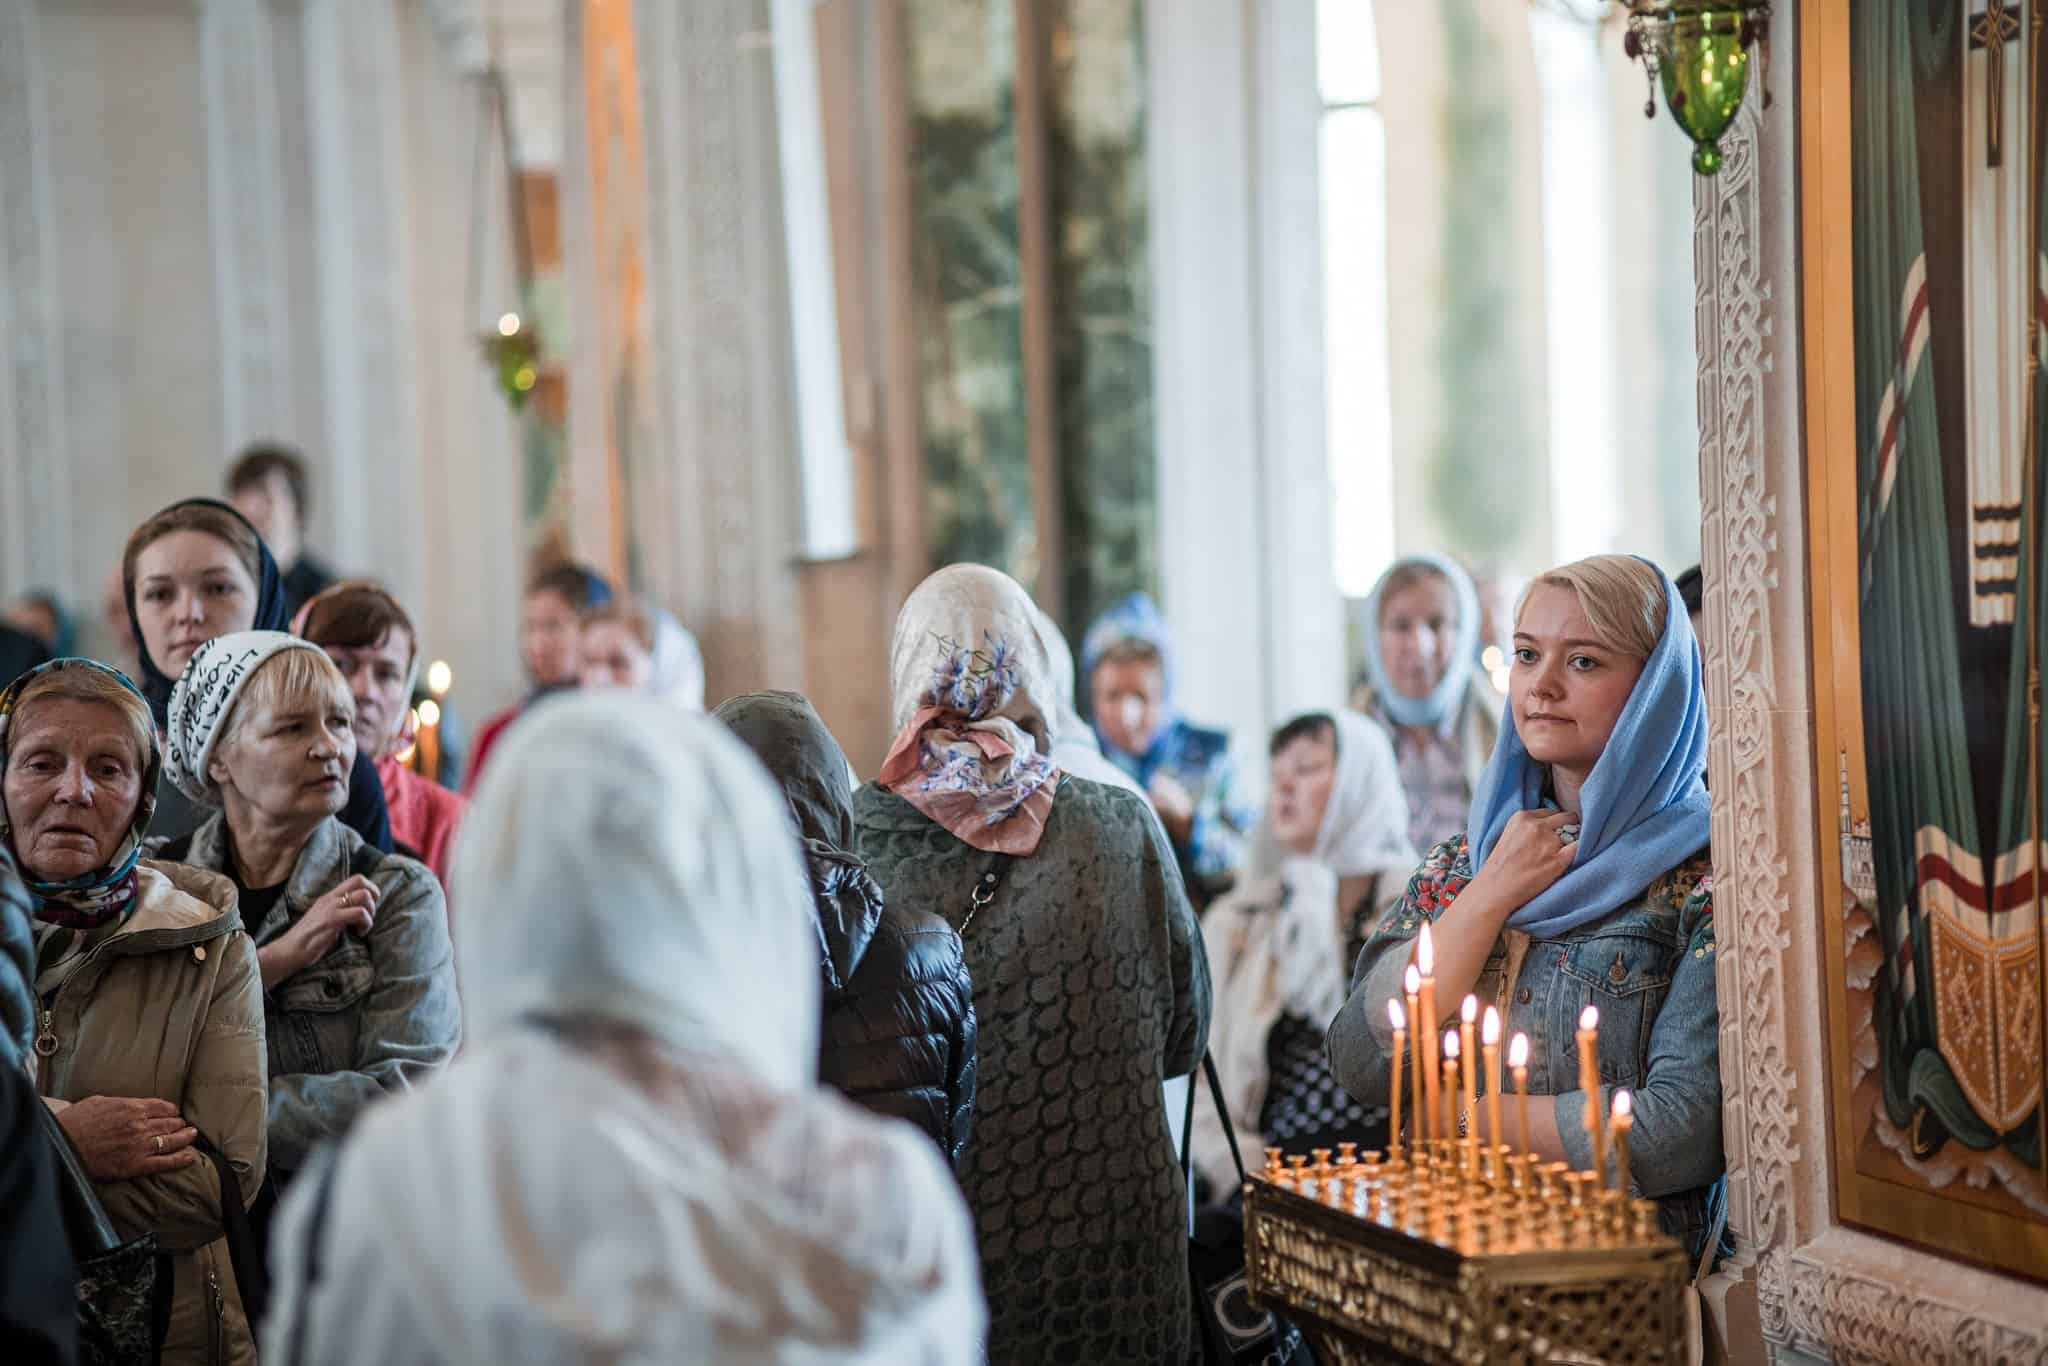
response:
[[[1599,1008],[1599,1106],[1632,1092],[1632,1194],[1694,1257],[1716,1237],[1720,1047],[1700,649],[1671,580],[1595,555],[1516,616],[1507,725],[1466,834],[1436,846],[1368,940],[1329,1026],[1337,1079],[1386,1094],[1413,940],[1432,926],[1442,1030],[1466,993],[1530,1040],[1530,1141],[1593,1167],[1575,1030]]]

